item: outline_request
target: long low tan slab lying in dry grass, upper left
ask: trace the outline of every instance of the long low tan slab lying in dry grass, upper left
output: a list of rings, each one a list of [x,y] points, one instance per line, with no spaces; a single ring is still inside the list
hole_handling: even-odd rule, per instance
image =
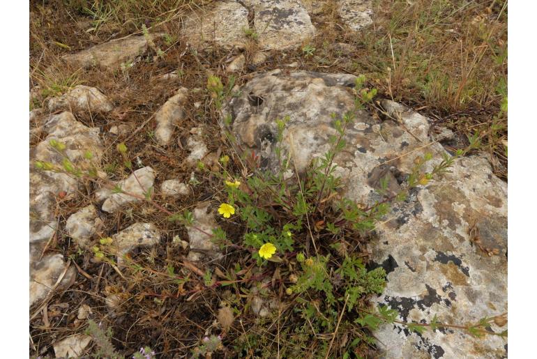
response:
[[[154,39],[159,35],[149,36]],[[80,68],[97,66],[103,70],[115,70],[121,66],[121,63],[133,61],[137,56],[144,54],[147,49],[148,43],[144,36],[130,36],[121,40],[110,40],[75,54],[63,55],[62,59]]]

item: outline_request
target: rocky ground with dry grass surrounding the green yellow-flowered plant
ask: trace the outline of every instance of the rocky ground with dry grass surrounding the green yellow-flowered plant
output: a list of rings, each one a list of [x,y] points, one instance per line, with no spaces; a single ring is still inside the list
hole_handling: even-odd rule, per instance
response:
[[[277,120],[288,116],[289,178],[303,174],[330,148],[331,115],[353,107],[358,75],[378,92],[334,159],[340,196],[366,208],[381,200],[379,188],[398,191],[416,156],[432,154],[431,171],[443,155],[470,151],[410,190],[368,240],[342,239],[368,268],[386,271],[384,292],[364,300],[398,310],[400,321],[453,328],[386,323],[347,353],[507,356],[505,337],[456,328],[507,312],[502,3],[139,1],[128,11],[121,3],[31,1],[31,356],[94,355],[111,344],[119,357],[150,346],[147,358],[190,358],[215,340],[215,357],[263,358],[274,353],[265,347],[280,355],[280,345],[292,346],[291,336],[280,343],[280,319],[282,333],[292,328],[284,319],[295,303],[278,267],[268,276],[236,270],[241,286],[222,284],[232,268],[250,266],[250,254],[205,235],[220,226],[229,238],[243,234],[217,214],[226,193],[213,171],[225,155],[245,171],[248,157],[234,148],[278,171]],[[221,97],[208,91],[212,75]],[[102,181],[35,165],[65,168],[66,158]],[[186,209],[190,227],[168,220]],[[306,356],[330,343],[342,357],[355,334],[334,333],[332,344],[332,333],[306,333]],[[264,337],[258,349],[255,335]]]

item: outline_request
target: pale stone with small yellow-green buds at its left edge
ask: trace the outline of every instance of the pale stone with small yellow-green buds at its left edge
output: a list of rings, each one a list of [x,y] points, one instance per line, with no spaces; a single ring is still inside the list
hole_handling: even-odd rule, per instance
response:
[[[160,231],[155,224],[135,223],[118,234],[112,236],[112,246],[118,257],[118,263],[121,263],[123,255],[134,250],[137,247],[151,247],[158,244],[160,240]]]

